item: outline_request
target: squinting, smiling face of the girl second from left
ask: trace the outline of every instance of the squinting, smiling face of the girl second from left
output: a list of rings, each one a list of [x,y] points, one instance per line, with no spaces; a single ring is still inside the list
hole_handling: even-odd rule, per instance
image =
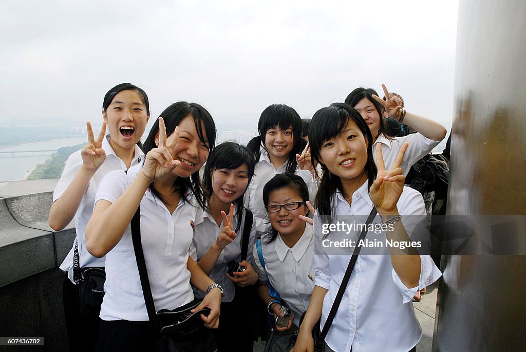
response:
[[[204,131],[205,127],[203,126]],[[170,140],[172,135],[168,136],[167,141]],[[207,138],[206,135],[204,137],[205,139]],[[159,144],[158,132],[155,137],[155,144]],[[181,164],[174,168],[173,173],[179,177],[188,177],[194,174],[205,164],[208,154],[208,140],[203,142],[199,139],[194,118],[188,115],[179,123],[179,140],[174,148],[172,157],[175,160],[179,160]]]

